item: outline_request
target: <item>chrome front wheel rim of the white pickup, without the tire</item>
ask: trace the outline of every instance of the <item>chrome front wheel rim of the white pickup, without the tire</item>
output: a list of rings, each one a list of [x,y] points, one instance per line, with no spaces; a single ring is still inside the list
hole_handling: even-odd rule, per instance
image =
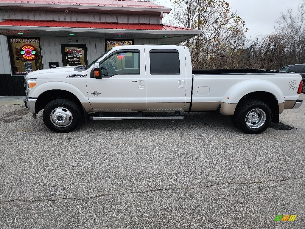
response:
[[[52,124],[57,127],[67,127],[72,123],[73,117],[67,108],[57,107],[51,112],[50,119]]]

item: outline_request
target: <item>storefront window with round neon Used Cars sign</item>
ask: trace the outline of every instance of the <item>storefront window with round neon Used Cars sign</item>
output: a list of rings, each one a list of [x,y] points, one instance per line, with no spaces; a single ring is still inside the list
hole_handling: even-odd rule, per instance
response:
[[[42,69],[39,38],[9,37],[8,44],[13,75]]]

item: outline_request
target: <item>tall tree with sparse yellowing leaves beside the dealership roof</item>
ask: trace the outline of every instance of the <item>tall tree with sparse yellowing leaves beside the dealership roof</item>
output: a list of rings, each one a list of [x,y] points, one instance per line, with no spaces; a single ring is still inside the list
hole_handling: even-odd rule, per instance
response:
[[[181,27],[202,30],[185,45],[194,68],[208,68],[219,56],[232,55],[242,45],[245,22],[222,0],[174,0],[172,17]]]

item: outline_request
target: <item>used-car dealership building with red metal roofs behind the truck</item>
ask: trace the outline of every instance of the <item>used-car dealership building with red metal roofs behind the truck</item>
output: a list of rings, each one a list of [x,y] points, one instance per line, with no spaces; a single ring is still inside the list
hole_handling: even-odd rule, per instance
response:
[[[25,94],[27,72],[86,65],[118,45],[176,45],[200,31],[163,25],[171,9],[131,0],[1,0],[0,96]]]

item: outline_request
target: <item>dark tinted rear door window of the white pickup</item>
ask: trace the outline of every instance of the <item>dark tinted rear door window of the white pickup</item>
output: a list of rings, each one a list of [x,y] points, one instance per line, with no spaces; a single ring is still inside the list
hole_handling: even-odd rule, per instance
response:
[[[178,50],[155,49],[150,50],[150,74],[180,74]]]

